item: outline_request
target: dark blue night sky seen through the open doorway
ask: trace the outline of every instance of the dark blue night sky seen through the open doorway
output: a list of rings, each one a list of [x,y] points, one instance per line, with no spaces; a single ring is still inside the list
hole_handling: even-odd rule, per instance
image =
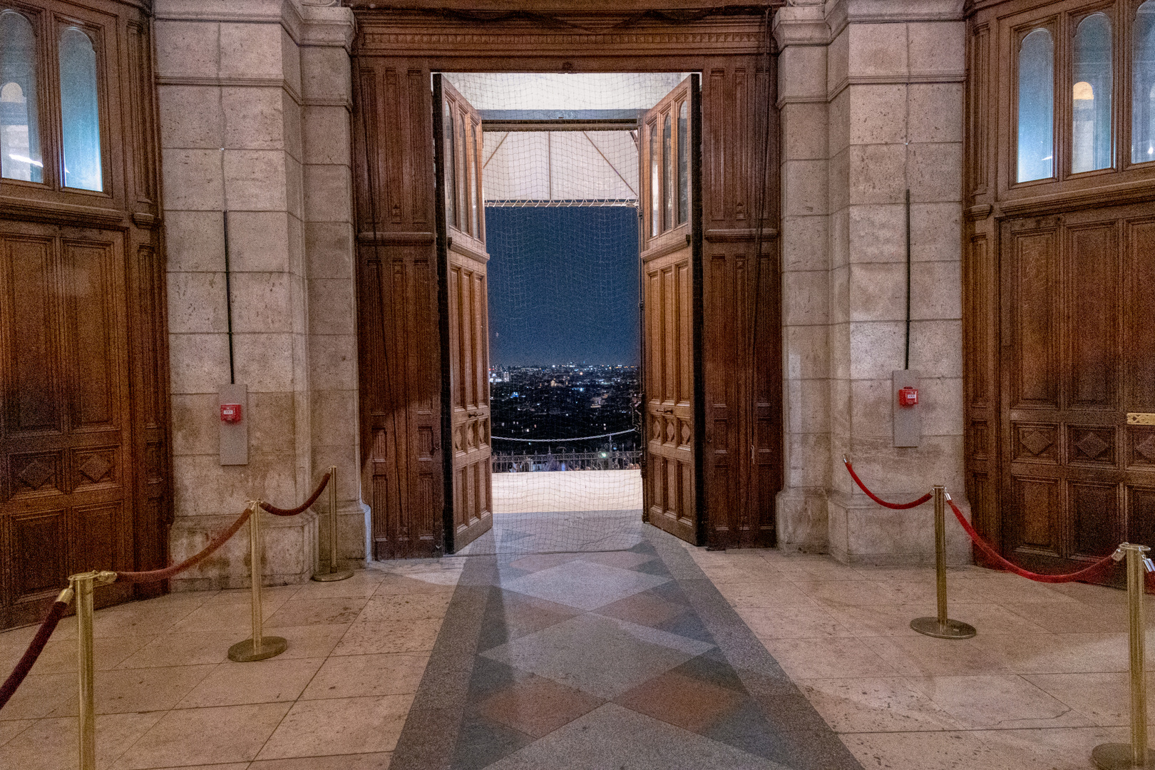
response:
[[[638,210],[485,209],[490,361],[638,364]]]

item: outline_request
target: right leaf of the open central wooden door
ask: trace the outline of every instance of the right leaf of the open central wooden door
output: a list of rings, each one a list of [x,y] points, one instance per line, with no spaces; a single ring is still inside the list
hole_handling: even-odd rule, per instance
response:
[[[702,500],[701,76],[639,125],[646,402],[644,510],[650,524],[705,541]]]

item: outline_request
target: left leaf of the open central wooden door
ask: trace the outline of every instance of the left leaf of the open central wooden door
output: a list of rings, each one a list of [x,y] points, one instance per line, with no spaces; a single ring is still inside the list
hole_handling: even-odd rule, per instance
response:
[[[433,75],[445,552],[493,526],[482,118]]]

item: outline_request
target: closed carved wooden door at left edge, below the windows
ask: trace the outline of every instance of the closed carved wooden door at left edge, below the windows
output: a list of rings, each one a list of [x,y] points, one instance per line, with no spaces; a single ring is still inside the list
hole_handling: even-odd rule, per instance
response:
[[[134,568],[125,297],[120,233],[0,232],[0,627],[38,619],[72,573]],[[102,604],[129,592],[109,589]]]

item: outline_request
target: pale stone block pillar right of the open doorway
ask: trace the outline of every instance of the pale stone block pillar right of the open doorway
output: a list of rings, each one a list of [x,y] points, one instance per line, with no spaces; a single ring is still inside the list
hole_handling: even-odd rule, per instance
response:
[[[808,99],[791,105],[787,96],[783,109],[805,103],[814,111],[810,119],[815,121],[806,127],[795,120],[791,126],[790,119],[783,118],[788,132],[783,137],[784,164],[793,167],[783,169],[785,393],[791,420],[790,471],[780,501],[782,540],[788,546],[808,546],[825,514],[829,551],[843,561],[927,562],[933,559],[929,506],[891,511],[872,503],[854,487],[842,468],[842,455],[851,456],[863,478],[885,498],[909,500],[932,484],[945,484],[964,502],[962,2],[803,2],[782,9],[776,24],[782,48],[780,77],[792,89],[783,87],[782,91]],[[817,179],[817,162],[808,162],[808,173],[799,173],[804,166],[798,164],[806,162],[798,156],[802,150],[790,143],[791,136],[810,137],[819,130],[817,79],[804,69],[819,66],[818,57],[811,53],[807,60],[807,54],[795,52],[821,45],[819,14],[828,40],[825,195]],[[894,448],[892,440],[895,406],[891,372],[903,367],[907,189],[911,194],[914,263],[910,367],[922,376],[923,439],[919,447],[902,449]],[[817,254],[808,257],[805,268],[791,259],[817,251],[824,237],[817,229],[798,227],[799,219],[812,216],[807,210],[811,201],[827,207],[825,268],[818,268],[821,260]],[[810,299],[819,281],[826,286],[821,307]],[[813,312],[799,317],[791,308],[804,302]],[[826,338],[819,341],[820,332],[810,329],[822,323]],[[826,423],[811,418],[806,409],[807,401],[815,397],[811,394],[824,382],[828,394]],[[821,466],[812,466],[812,458],[824,449]],[[799,461],[796,453],[805,459]],[[799,468],[806,472],[797,473]],[[806,537],[797,534],[802,532]],[[952,559],[968,559],[966,536],[957,528],[949,532]]]

